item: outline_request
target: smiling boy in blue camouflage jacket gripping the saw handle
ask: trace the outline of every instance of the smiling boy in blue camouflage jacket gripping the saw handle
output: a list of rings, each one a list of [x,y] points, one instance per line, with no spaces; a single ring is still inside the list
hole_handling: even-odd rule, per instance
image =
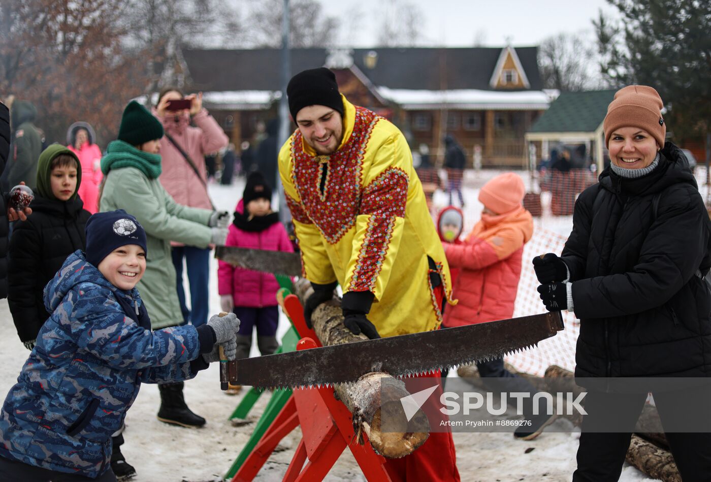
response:
[[[115,481],[111,434],[141,383],[188,380],[235,357],[235,314],[151,331],[134,286],[146,233],[124,210],[92,215],[76,251],[46,286],[51,314],[0,411],[2,481]]]

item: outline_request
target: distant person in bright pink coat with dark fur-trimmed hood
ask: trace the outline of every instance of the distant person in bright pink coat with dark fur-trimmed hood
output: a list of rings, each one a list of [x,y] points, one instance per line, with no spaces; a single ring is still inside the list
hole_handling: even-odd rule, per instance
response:
[[[67,130],[67,147],[77,155],[82,168],[82,184],[77,195],[84,202],[84,209],[94,214],[99,210],[99,186],[101,173],[101,149],[95,144],[94,129],[86,122],[75,122]]]

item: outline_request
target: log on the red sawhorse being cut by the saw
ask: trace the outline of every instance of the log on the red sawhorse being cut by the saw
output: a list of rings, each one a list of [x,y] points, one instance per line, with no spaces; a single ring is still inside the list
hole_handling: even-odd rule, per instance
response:
[[[300,279],[294,285],[294,294],[299,297],[302,305],[311,292],[311,284],[306,279]],[[311,324],[323,346],[368,339],[362,333],[353,335],[343,325],[341,300],[336,296],[314,310]],[[348,360],[343,360],[343,363],[348,363]],[[338,400],[353,414],[353,429],[359,441],[362,443],[362,434],[365,433],[373,450],[388,459],[412,454],[429,437],[429,421],[422,409],[407,422],[400,399],[410,393],[402,380],[374,371],[364,373],[354,383],[334,385],[333,390]],[[402,430],[384,432],[380,422],[385,417],[389,421],[396,420],[396,427]]]

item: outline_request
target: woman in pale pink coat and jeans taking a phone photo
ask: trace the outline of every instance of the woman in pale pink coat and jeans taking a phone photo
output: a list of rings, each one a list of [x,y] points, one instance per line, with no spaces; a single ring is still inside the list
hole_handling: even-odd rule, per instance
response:
[[[190,109],[169,108],[169,101],[183,98],[190,101]],[[217,121],[203,109],[202,92],[183,97],[183,92],[176,88],[164,89],[158,97],[154,114],[163,123],[165,132],[161,139],[162,171],[159,181],[176,203],[191,208],[213,209],[208,196],[205,155],[223,149],[229,140]],[[190,161],[181,154],[181,150]],[[208,321],[210,248],[171,244],[177,274],[176,289],[184,321],[200,326]],[[188,269],[191,309],[185,302],[183,259]]]

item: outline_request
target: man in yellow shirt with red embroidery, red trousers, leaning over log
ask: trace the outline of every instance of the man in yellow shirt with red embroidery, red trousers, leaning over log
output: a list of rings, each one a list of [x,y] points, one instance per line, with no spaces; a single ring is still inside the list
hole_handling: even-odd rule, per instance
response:
[[[400,130],[351,105],[331,70],[304,70],[287,87],[298,129],[279,173],[299,238],[311,311],[343,289],[343,316],[369,338],[439,328],[449,267]],[[344,360],[347,363],[347,360]],[[451,433],[432,433],[388,461],[392,480],[458,481]]]

